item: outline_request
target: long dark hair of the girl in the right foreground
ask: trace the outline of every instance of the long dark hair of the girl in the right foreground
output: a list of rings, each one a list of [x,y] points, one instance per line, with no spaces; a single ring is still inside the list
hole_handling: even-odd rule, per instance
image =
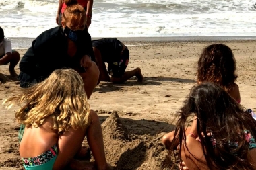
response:
[[[171,143],[170,156],[172,153],[177,155],[174,152],[177,141],[187,147],[185,129],[187,121],[193,115],[197,116],[197,134],[210,170],[253,169],[248,158],[249,143],[245,138],[245,130],[256,137],[256,121],[220,85],[210,82],[193,87],[183,107],[177,112],[179,120]],[[212,145],[212,138],[208,133],[214,136],[216,147]],[[237,142],[237,147],[231,146],[232,142]],[[182,161],[181,150],[177,155],[177,162]],[[200,161],[196,157],[195,159]]]

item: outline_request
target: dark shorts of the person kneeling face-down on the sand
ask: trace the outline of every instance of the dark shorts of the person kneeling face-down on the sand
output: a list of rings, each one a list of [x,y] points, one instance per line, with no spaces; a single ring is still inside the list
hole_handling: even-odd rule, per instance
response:
[[[120,54],[119,62],[108,63],[108,74],[113,77],[121,77],[125,73],[125,69],[129,63],[129,50],[125,48]]]

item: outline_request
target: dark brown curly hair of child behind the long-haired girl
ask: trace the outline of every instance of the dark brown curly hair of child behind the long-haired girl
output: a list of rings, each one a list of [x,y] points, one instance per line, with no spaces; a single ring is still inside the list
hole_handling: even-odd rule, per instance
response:
[[[232,91],[236,81],[236,60],[225,44],[212,44],[203,48],[198,60],[197,83],[210,81]]]

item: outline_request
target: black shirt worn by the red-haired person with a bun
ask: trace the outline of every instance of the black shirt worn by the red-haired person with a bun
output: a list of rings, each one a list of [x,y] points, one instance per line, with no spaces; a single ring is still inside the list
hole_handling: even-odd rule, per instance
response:
[[[77,52],[71,57],[67,54],[67,36],[61,27],[42,32],[22,57],[19,65],[20,74],[25,73],[28,75],[26,77],[31,77],[31,79],[40,77],[43,80],[49,77],[55,69],[80,67],[80,59],[86,54],[95,61],[91,36],[86,29],[83,31],[82,38],[79,38],[76,43]],[[28,82],[26,79],[28,78],[22,81]]]

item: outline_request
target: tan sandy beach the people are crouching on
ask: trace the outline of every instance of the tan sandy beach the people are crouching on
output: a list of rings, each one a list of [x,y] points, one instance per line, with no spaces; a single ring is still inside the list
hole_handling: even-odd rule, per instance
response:
[[[173,130],[176,112],[196,85],[197,60],[203,47],[217,41],[123,41],[130,51],[127,71],[140,67],[143,83],[135,77],[123,84],[101,82],[89,100],[102,122],[106,159],[114,169],[168,169],[168,151],[161,138]],[[241,105],[256,111],[256,40],[222,41],[236,58]],[[18,49],[21,57],[27,49]],[[1,65],[0,102],[15,95],[19,82]],[[19,73],[18,66],[15,68]],[[20,126],[13,107],[0,110],[0,169],[23,169],[18,151]],[[84,140],[86,145],[86,140]],[[93,161],[93,158],[90,160]]]

